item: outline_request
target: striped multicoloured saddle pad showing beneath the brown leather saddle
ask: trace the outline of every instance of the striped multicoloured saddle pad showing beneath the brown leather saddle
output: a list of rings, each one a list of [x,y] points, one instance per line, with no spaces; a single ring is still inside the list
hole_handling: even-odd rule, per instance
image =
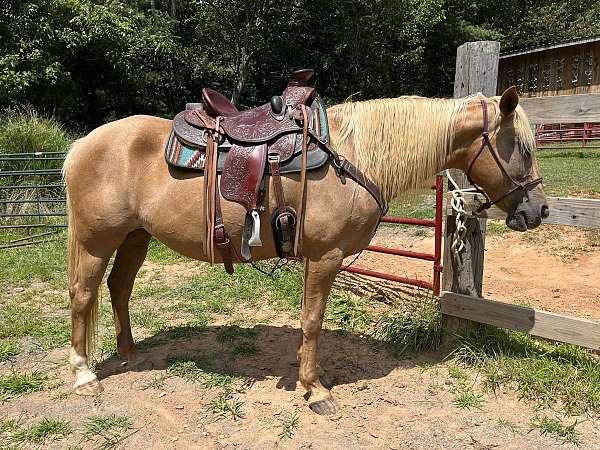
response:
[[[229,154],[231,146],[219,147],[219,159],[217,162],[217,171],[221,173],[225,166],[225,161]],[[194,147],[188,143],[182,142],[171,131],[169,140],[165,147],[165,159],[170,166],[179,169],[204,171],[204,159],[206,157],[203,147]],[[327,162],[329,154],[315,146],[307,153],[307,170],[318,169]],[[281,173],[294,173],[302,170],[302,146],[296,149],[292,157],[280,164],[279,171]],[[267,165],[265,173],[270,173],[270,168]]]

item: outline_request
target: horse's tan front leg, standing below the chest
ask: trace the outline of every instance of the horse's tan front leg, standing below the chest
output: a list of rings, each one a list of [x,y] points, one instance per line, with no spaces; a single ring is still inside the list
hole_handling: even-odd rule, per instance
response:
[[[337,405],[320,381],[317,350],[323,324],[325,304],[343,257],[339,250],[319,260],[304,261],[304,298],[302,302],[302,343],[299,349],[300,382],[307,390],[310,408],[317,414],[334,414]]]

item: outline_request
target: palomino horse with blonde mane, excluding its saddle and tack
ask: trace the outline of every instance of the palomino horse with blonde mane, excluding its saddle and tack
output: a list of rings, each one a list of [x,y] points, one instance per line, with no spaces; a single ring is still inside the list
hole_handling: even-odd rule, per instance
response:
[[[484,110],[484,111],[482,111]],[[485,119],[484,113],[485,112]],[[404,97],[337,105],[328,110],[332,142],[393,199],[446,168],[470,177],[507,212],[507,225],[534,228],[548,206],[533,154],[534,139],[516,90],[502,97]],[[489,115],[489,119],[487,116]],[[489,127],[489,143],[484,120]],[[99,127],[78,140],[64,165],[69,204],[69,278],[72,308],[70,366],[75,392],[96,394],[101,385],[88,366],[95,341],[98,287],[108,277],[120,357],[139,358],[131,334],[129,298],[151,236],[190,258],[203,252],[202,176],[167,166],[163,151],[171,121],[134,116]],[[531,182],[532,180],[535,180]],[[520,187],[518,187],[519,185]],[[298,208],[299,174],[284,176],[285,198]],[[507,195],[508,194],[508,195]],[[310,171],[300,245],[304,259],[299,379],[309,406],[332,413],[336,404],[320,381],[317,346],[325,303],[342,261],[364,249],[380,218],[373,197],[331,164]],[[267,215],[276,208],[272,192]],[[223,201],[225,226],[239,248],[245,210]],[[253,257],[276,256],[268,224]]]

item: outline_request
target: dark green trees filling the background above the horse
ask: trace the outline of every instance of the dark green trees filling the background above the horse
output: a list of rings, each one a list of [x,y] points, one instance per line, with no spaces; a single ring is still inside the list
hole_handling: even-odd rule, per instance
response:
[[[86,127],[168,116],[203,86],[255,105],[301,67],[329,102],[449,95],[456,47],[600,34],[586,0],[35,0],[0,9],[0,108],[31,103]]]

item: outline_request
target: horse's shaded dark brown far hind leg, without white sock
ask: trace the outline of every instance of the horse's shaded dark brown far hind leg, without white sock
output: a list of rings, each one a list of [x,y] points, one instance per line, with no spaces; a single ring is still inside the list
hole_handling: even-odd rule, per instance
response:
[[[150,234],[143,229],[132,231],[117,250],[117,256],[108,276],[108,289],[115,316],[117,353],[133,362],[136,357],[135,344],[129,320],[129,299],[133,282],[146,259]]]

